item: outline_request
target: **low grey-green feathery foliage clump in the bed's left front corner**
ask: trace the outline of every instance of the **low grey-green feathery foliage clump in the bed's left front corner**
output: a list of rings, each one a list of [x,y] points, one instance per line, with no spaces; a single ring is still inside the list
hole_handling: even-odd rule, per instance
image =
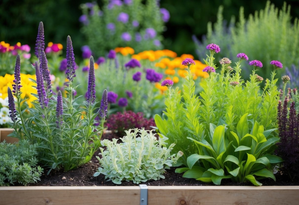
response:
[[[28,140],[20,140],[19,144],[0,143],[0,186],[40,180],[43,169],[36,166],[36,157],[36,145],[30,145]]]

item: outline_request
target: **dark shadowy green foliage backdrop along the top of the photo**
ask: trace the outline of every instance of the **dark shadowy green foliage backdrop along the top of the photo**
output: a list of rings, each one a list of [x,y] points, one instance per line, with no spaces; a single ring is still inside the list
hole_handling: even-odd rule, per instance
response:
[[[0,41],[14,45],[17,42],[31,46],[34,50],[39,22],[44,23],[45,42],[62,43],[65,46],[66,36],[70,35],[75,53],[85,45],[85,39],[80,33],[81,24],[78,21],[82,14],[80,4],[88,0],[1,0],[0,3]],[[102,4],[100,0],[97,1]],[[276,7],[281,8],[283,1],[272,0]],[[299,17],[299,1],[288,0],[291,5],[292,20]],[[207,23],[216,22],[216,14],[220,5],[224,6],[223,16],[228,22],[231,16],[238,20],[239,8],[244,7],[245,18],[255,10],[263,9],[266,0],[161,0],[161,7],[170,11],[170,21],[166,23],[163,44],[165,48],[178,54],[191,53],[195,55],[195,45],[191,36],[199,39],[207,31]]]

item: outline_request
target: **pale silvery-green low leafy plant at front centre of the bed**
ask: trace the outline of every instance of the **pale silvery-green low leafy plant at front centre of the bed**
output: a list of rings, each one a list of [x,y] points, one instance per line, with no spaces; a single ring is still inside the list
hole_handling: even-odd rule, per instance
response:
[[[112,180],[115,184],[121,184],[124,180],[139,184],[151,179],[164,179],[165,169],[169,169],[183,155],[181,151],[170,155],[175,144],[167,148],[166,137],[157,140],[152,131],[144,128],[129,129],[120,140],[123,143],[117,144],[117,139],[113,142],[107,139],[101,141],[107,149],[100,148],[102,158],[97,159],[101,167],[94,177],[103,174],[106,175],[105,179],[109,178],[108,181]]]

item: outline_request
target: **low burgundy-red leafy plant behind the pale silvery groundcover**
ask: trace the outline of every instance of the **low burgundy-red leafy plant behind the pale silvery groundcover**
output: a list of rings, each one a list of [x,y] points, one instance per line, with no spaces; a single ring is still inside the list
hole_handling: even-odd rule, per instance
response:
[[[109,130],[117,131],[120,137],[123,137],[125,130],[132,128],[142,128],[152,130],[150,126],[156,126],[154,119],[147,119],[143,117],[142,112],[135,113],[133,111],[125,111],[123,114],[118,112],[112,114],[107,119],[106,126]]]

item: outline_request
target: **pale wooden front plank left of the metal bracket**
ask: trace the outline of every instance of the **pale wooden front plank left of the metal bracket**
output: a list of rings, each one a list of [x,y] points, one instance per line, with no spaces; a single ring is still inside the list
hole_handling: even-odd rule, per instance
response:
[[[132,205],[139,201],[138,186],[0,187],[1,205]]]

